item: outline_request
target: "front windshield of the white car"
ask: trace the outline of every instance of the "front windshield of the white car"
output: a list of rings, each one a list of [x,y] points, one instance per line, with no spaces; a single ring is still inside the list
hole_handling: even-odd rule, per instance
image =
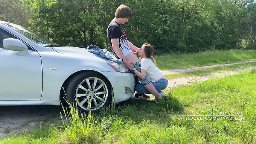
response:
[[[10,23],[5,23],[6,26],[11,27],[12,29],[18,31],[20,34],[22,34],[23,36],[27,37],[28,39],[32,40],[33,42],[37,43],[38,45],[42,45],[42,46],[57,46],[56,43],[50,41],[49,39],[46,39],[43,36],[40,36],[37,33],[34,33],[33,31],[19,26],[17,24],[10,24]]]

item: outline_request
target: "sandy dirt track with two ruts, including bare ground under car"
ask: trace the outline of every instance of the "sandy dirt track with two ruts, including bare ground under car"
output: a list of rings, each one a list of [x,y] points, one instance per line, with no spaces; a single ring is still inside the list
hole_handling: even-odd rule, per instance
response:
[[[256,62],[249,61],[249,62]],[[246,62],[240,62],[246,63]],[[163,74],[177,74],[181,72],[193,71],[196,69],[207,69],[217,66],[235,65],[240,63],[230,63],[224,65],[203,66],[187,69],[173,69],[168,71],[162,71]],[[225,77],[227,75],[238,74],[240,69],[236,71],[224,71],[220,73],[214,73],[212,75],[204,75],[200,77],[182,77],[169,80],[168,87],[173,87],[181,84],[193,83],[194,81],[206,81],[211,78]],[[246,71],[242,69],[242,71]],[[10,134],[20,134],[27,130],[32,130],[34,127],[40,125],[51,125],[54,123],[61,123],[60,111],[61,106],[9,106],[0,107],[0,138],[8,136]]]

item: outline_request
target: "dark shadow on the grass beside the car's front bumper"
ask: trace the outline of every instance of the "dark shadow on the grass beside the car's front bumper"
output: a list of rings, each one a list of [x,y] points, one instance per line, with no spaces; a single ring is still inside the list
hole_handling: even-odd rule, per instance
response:
[[[125,117],[135,123],[142,121],[158,121],[160,123],[170,123],[175,113],[184,111],[184,104],[171,93],[166,93],[169,101],[156,103],[151,99],[136,100],[133,97],[124,102],[113,104],[111,108],[105,108],[98,115],[99,117],[114,116]]]

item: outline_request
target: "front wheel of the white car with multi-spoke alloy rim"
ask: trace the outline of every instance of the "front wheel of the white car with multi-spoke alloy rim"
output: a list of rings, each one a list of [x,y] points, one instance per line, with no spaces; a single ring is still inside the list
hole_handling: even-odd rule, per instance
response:
[[[82,113],[98,112],[112,102],[112,87],[98,72],[81,72],[73,77],[66,89],[67,101]]]

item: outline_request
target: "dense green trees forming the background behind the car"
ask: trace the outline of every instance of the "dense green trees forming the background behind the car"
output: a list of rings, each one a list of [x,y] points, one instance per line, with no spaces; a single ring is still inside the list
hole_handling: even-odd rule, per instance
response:
[[[256,47],[254,0],[0,1],[0,18],[21,24],[20,17],[5,14],[15,11],[14,2],[26,7],[18,13],[29,19],[30,29],[60,45],[110,49],[107,27],[116,8],[125,4],[133,17],[123,28],[138,47],[151,43],[159,53]]]

